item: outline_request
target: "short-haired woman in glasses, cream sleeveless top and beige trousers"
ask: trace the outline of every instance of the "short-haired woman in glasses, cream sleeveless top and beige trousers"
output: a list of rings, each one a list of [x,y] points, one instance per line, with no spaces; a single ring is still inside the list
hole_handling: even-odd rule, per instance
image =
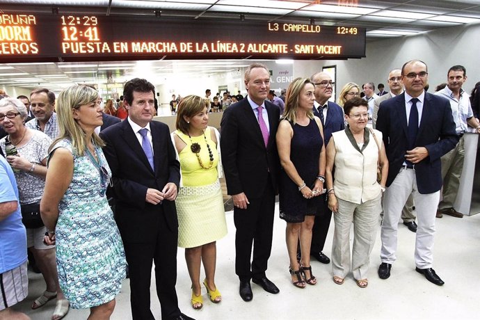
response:
[[[368,104],[360,97],[345,102],[348,126],[333,133],[327,146],[328,207],[334,212],[333,281],[342,285],[350,269],[358,287],[368,285],[367,272],[387,182],[388,160],[380,131],[367,128]],[[335,181],[333,169],[335,168]],[[377,168],[381,180],[377,182]],[[350,259],[350,227],[353,253]]]

